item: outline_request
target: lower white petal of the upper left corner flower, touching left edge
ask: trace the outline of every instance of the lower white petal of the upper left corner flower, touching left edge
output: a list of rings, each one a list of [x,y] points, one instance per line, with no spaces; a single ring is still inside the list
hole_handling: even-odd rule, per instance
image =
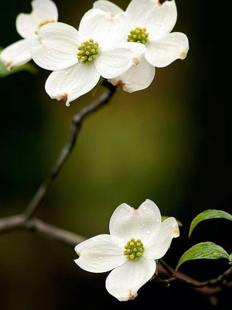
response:
[[[15,66],[21,66],[31,60],[31,48],[39,46],[39,40],[22,39],[9,45],[0,53],[1,62],[11,70]]]

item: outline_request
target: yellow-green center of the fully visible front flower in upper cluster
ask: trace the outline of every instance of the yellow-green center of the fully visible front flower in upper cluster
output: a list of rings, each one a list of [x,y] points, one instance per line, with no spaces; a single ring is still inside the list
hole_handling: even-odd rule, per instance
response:
[[[77,53],[77,58],[82,64],[92,62],[99,53],[98,43],[94,43],[93,39],[83,42],[78,50],[80,52]]]

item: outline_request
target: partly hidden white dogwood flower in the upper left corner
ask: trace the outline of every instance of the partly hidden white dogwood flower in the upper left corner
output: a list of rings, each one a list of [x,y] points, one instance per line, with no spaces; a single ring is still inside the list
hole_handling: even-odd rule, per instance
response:
[[[30,14],[20,13],[16,19],[16,29],[23,37],[5,48],[0,54],[0,60],[11,70],[31,60],[31,48],[40,45],[38,30],[58,20],[58,11],[51,0],[34,0],[31,2]]]

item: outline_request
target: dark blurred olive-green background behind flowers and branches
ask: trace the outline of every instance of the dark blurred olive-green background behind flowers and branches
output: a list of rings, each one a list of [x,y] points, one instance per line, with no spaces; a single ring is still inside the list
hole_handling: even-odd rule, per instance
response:
[[[72,26],[78,26],[93,4],[55,2],[59,21]],[[125,9],[129,0],[114,2]],[[226,220],[206,221],[187,238],[199,212],[231,212],[229,8],[221,1],[176,3],[174,31],[188,36],[187,58],[157,69],[153,84],[144,91],[119,90],[85,122],[73,154],[37,214],[90,237],[108,232],[111,214],[122,202],[139,207],[149,198],[163,215],[184,223],[181,237],[165,256],[173,266],[202,241],[232,252],[232,224]],[[30,10],[29,0],[1,1],[0,46],[20,39],[16,16]],[[92,100],[87,94],[70,108],[52,101],[44,90],[47,76],[40,70],[38,76],[21,72],[0,79],[1,217],[23,211],[63,146],[71,115]],[[87,273],[74,258],[74,250],[37,233],[1,234],[0,309],[210,308],[208,298],[178,283],[169,288],[147,283],[135,301],[119,303],[105,289],[106,274]],[[223,259],[196,260],[180,270],[204,281],[227,268]],[[219,308],[229,309],[229,296],[218,296]]]

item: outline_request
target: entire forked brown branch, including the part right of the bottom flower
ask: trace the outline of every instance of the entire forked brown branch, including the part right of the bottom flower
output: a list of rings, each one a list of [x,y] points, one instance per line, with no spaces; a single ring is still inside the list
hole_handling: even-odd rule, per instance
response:
[[[33,216],[37,211],[38,207],[44,201],[48,189],[50,188],[53,181],[58,176],[61,168],[70,156],[73,147],[75,146],[75,143],[77,141],[77,137],[84,119],[89,114],[96,111],[104,104],[108,103],[112,96],[115,94],[116,86],[113,86],[106,80],[103,80],[102,84],[107,87],[107,90],[98,99],[93,101],[93,103],[90,103],[89,105],[84,107],[79,113],[73,116],[68,140],[65,143],[65,146],[62,149],[60,155],[58,156],[58,159],[53,166],[48,178],[39,187],[38,191],[32,198],[29,205],[26,207],[23,214],[0,219],[0,233],[11,232],[19,229],[40,232],[50,238],[53,238],[58,242],[61,242],[67,246],[71,246],[72,248],[86,239],[81,235],[47,224],[37,218],[34,218]],[[169,285],[172,281],[179,280],[192,286],[200,293],[210,296],[220,292],[223,286],[232,287],[232,282],[228,281],[228,279],[230,279],[232,276],[232,266],[217,279],[211,279],[206,282],[199,282],[186,274],[176,271],[173,267],[169,266],[162,259],[159,260],[158,267],[159,275],[164,274],[166,279],[160,279],[157,275],[154,275],[151,280],[165,285]]]

